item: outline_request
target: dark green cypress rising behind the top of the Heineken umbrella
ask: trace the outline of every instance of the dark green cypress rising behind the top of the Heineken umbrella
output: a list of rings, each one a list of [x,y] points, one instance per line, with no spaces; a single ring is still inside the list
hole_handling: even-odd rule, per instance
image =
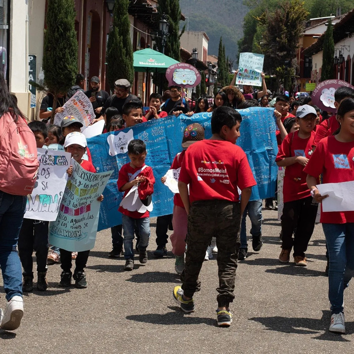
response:
[[[177,61],[181,61],[180,55],[180,38],[184,32],[184,28],[180,33],[181,9],[179,0],[164,0],[159,1],[157,6],[158,13],[162,16],[166,15],[166,20],[169,23],[168,36],[165,43],[165,55]],[[162,39],[157,38],[157,48],[162,52]]]

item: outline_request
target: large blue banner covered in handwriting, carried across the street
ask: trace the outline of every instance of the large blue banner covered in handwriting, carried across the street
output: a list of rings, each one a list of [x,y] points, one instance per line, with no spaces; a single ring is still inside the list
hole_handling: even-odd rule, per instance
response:
[[[257,181],[257,186],[252,188],[251,200],[273,197],[277,180],[275,157],[278,152],[274,109],[252,107],[239,112],[243,120],[237,144],[246,152]],[[88,139],[87,145],[97,172],[113,170],[103,192],[105,199],[101,204],[98,230],[121,224],[121,214],[117,210],[123,193],[118,192],[117,179],[119,169],[129,162],[126,152],[130,140],[141,139],[145,142],[148,151],[145,162],[154,172],[154,209],[150,215],[171,214],[173,193],[160,179],[170,168],[174,156],[182,151],[185,127],[191,123],[200,123],[208,139],[211,137],[210,119],[211,113],[198,113],[191,117],[169,116]]]

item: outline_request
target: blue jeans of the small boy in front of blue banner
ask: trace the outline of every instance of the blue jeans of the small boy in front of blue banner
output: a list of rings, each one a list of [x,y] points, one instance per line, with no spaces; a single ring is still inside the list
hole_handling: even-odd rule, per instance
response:
[[[134,250],[132,246],[132,241],[134,240],[134,227],[137,226],[137,228],[139,229],[139,250],[140,252],[145,252],[146,248],[148,247],[150,238],[150,217],[142,217],[140,219],[135,219],[123,214],[122,225],[124,238],[124,258],[133,259]]]

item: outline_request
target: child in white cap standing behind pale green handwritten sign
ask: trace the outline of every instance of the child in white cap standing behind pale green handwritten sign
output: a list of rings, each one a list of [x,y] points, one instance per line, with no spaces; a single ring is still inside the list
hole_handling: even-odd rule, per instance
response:
[[[83,169],[89,172],[96,173],[94,165],[90,161],[82,159],[86,151],[87,143],[86,138],[80,132],[74,131],[69,133],[65,138],[64,150],[71,153],[71,157],[81,165]],[[72,166],[68,168],[69,177],[72,174]],[[103,195],[101,194],[97,200],[101,202]],[[71,273],[71,251],[61,248],[61,280],[59,286],[68,287],[71,285],[71,276],[75,280],[75,287],[78,289],[87,288],[86,276],[84,268],[86,267],[87,259],[89,258],[90,250],[78,252],[75,258],[75,271],[74,275]]]

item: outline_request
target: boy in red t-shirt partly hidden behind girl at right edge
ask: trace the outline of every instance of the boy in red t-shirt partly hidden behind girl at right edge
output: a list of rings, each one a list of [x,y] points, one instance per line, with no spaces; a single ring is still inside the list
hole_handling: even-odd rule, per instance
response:
[[[350,87],[338,87],[334,93],[334,107],[338,109],[340,103],[346,98],[354,98],[354,90]],[[326,137],[333,135],[336,130],[339,129],[339,123],[337,121],[336,115],[332,115],[328,119],[325,119],[322,123],[317,126],[316,135],[313,142],[313,148],[316,149],[318,143]]]

